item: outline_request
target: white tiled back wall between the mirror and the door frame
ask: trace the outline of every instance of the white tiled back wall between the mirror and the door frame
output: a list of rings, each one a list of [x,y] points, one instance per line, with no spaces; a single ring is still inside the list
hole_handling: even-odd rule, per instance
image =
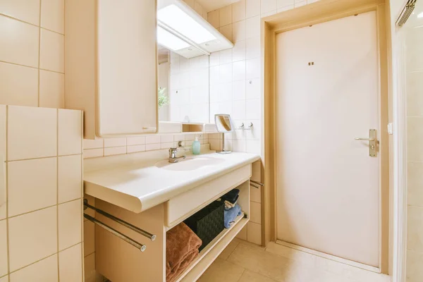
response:
[[[240,123],[245,126],[253,124],[252,130],[235,130],[235,133],[225,135],[229,149],[256,154],[262,152],[261,18],[316,1],[241,0],[208,13],[209,23],[235,44],[233,49],[210,56],[210,116],[231,114],[236,126]],[[259,170],[256,171],[259,173]],[[256,188],[251,189],[253,193],[257,192]],[[252,197],[251,213],[251,221],[240,233],[240,238],[261,244],[261,192]]]

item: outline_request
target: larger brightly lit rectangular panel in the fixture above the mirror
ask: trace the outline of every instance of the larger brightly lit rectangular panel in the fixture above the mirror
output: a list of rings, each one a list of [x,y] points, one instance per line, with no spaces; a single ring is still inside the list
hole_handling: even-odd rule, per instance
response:
[[[200,23],[197,23],[197,21],[174,4],[160,9],[157,13],[157,18],[161,23],[172,27],[173,30],[188,37],[197,44],[216,39],[209,30],[200,25]]]

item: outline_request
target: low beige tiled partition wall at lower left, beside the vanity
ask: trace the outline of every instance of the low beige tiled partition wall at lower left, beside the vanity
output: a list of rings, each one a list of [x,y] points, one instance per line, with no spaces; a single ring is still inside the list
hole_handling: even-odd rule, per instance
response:
[[[0,281],[82,281],[82,111],[0,105]]]

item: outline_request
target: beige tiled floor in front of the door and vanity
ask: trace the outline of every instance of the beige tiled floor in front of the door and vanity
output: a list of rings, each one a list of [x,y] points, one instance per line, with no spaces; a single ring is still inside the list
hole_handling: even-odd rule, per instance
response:
[[[388,282],[347,264],[270,243],[259,247],[235,239],[200,277],[199,282]]]

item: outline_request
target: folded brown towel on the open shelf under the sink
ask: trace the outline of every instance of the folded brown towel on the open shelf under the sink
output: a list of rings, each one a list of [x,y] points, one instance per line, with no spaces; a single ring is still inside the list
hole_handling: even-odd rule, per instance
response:
[[[166,282],[175,281],[197,257],[202,240],[185,224],[166,233]]]

